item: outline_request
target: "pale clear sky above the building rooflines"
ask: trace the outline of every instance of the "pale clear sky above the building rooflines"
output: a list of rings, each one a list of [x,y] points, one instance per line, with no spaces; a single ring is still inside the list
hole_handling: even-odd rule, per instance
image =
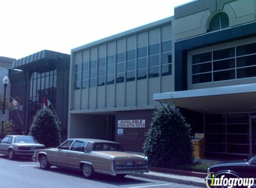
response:
[[[0,0],[0,56],[71,49],[174,15],[192,0]]]

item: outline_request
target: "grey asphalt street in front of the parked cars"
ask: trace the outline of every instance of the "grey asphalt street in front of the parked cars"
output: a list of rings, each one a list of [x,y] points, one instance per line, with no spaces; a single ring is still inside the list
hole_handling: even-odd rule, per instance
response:
[[[190,185],[126,176],[97,175],[85,179],[82,172],[52,167],[42,170],[38,162],[0,155],[0,188],[197,188]]]

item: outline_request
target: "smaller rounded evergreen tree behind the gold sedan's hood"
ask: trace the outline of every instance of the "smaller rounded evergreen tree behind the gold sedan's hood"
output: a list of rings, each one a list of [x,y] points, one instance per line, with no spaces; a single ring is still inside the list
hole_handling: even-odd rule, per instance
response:
[[[31,124],[29,135],[34,136],[39,143],[46,147],[59,146],[59,122],[52,110],[48,108],[38,110]]]

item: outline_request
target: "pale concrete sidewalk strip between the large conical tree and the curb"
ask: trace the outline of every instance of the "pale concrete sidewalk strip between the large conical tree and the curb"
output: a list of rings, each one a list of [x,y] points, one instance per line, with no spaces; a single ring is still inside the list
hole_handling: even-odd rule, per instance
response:
[[[152,172],[144,173],[144,174],[133,174],[132,176],[143,177],[148,179],[154,180],[163,180],[169,181],[177,184],[186,184],[186,185],[193,185],[197,187],[206,187],[206,183],[204,178],[198,178],[193,176],[182,176],[176,174],[168,174],[162,172]]]

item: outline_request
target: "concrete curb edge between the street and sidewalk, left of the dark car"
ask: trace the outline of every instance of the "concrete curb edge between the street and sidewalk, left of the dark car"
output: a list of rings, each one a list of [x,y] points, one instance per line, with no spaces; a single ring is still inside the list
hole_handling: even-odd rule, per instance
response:
[[[172,178],[172,177],[167,177],[167,176],[156,176],[156,175],[151,175],[151,174],[132,174],[131,176],[137,176],[137,177],[143,177],[143,178],[148,178],[148,179],[153,179],[153,180],[162,180],[162,181],[168,181],[168,182],[173,182],[177,184],[185,184],[185,185],[193,185],[197,187],[206,187],[206,184],[201,181],[194,181],[194,180],[182,180],[178,178]]]

